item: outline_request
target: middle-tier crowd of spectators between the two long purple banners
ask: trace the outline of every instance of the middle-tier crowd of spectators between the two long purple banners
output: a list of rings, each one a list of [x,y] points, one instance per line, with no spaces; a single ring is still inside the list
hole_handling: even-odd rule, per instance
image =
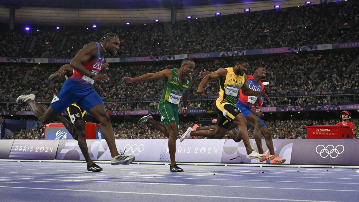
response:
[[[356,52],[327,52],[325,54],[279,54],[274,57],[261,59],[250,59],[250,67],[247,74],[253,74],[253,68],[257,65],[265,66],[267,69],[266,79],[270,81],[270,89],[267,91],[270,102],[267,106],[288,105],[325,105],[334,102],[326,98],[325,93],[330,92],[352,92],[358,90],[359,56]],[[179,68],[180,60],[157,61],[150,63],[110,63],[110,70],[106,72],[110,81],[106,83],[95,83],[94,89],[106,104],[108,109],[136,110],[156,109],[156,102],[163,92],[163,79],[147,82],[124,83],[122,78],[137,77],[145,73],[159,72],[166,68]],[[196,91],[201,82],[198,77],[201,71],[213,72],[218,68],[233,66],[230,58],[220,58],[211,61],[196,60],[196,68],[192,74],[193,83],[190,86],[189,101],[192,100],[215,100],[218,96],[218,81],[211,81],[205,87],[206,96],[197,96]],[[52,64],[14,64],[2,63],[0,65],[0,76],[4,82],[0,83],[0,101],[9,102],[1,104],[1,109],[13,111],[24,111],[26,106],[14,105],[19,95],[33,93],[41,102],[50,102],[53,95],[60,91],[65,78],[50,83],[48,77],[56,72],[60,65]],[[305,68],[303,68],[305,67]],[[291,93],[307,97],[297,98]],[[322,97],[311,97],[315,92]],[[286,97],[286,98],[283,98]],[[290,101],[289,101],[290,100]],[[135,103],[131,103],[135,102]],[[202,106],[205,102],[202,101]],[[207,104],[206,106],[211,106]],[[14,110],[15,109],[15,110]]]

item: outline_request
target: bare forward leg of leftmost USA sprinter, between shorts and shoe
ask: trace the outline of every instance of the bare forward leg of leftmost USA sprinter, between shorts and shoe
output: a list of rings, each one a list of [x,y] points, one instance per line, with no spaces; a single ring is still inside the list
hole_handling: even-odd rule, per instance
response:
[[[89,110],[89,114],[100,121],[103,137],[110,149],[111,157],[119,155],[115,143],[115,133],[113,132],[110,116],[106,113],[105,107],[101,104],[96,105]]]

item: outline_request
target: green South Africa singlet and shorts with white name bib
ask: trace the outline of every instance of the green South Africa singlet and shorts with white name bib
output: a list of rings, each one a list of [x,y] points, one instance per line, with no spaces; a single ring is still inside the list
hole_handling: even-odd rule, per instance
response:
[[[172,122],[176,122],[177,130],[180,128],[180,120],[178,120],[178,104],[180,103],[182,94],[191,85],[191,77],[183,80],[181,86],[178,82],[177,68],[173,68],[171,81],[167,81],[167,77],[163,79],[163,93],[161,100],[158,102],[157,111],[161,116],[161,121],[165,126]]]

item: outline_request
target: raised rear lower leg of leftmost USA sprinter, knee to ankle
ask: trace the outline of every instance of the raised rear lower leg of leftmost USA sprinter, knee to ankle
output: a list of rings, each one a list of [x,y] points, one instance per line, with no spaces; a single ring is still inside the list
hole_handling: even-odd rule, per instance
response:
[[[28,99],[26,103],[30,105],[32,111],[43,124],[50,123],[51,121],[55,120],[57,116],[60,115],[60,113],[53,110],[51,106],[48,107],[47,110],[45,110],[41,105],[37,104],[31,99]]]

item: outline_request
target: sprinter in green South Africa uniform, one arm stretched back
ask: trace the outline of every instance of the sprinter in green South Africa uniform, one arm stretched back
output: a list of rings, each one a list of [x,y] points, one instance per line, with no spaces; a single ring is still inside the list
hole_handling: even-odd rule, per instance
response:
[[[176,140],[178,138],[178,129],[180,121],[178,120],[178,104],[182,98],[182,113],[187,115],[187,98],[189,86],[192,83],[191,74],[195,69],[195,63],[190,58],[182,60],[181,68],[164,69],[160,72],[144,74],[136,78],[123,77],[122,81],[126,83],[144,82],[152,79],[163,78],[164,89],[161,100],[158,102],[157,110],[161,116],[163,124],[155,121],[152,115],[142,117],[138,123],[150,123],[157,130],[168,137],[169,156],[171,165],[169,171],[183,172],[184,170],[176,164]]]

